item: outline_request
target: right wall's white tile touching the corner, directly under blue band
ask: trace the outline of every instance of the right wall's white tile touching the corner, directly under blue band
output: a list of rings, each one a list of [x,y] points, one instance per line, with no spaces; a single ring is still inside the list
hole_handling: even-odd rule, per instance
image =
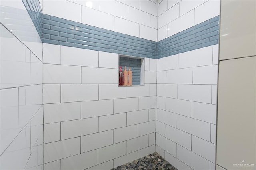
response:
[[[178,69],[178,55],[157,59],[157,71]]]

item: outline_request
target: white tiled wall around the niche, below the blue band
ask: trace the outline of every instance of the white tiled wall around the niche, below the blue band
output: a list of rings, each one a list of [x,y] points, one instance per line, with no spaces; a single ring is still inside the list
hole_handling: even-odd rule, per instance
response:
[[[113,168],[113,161],[117,166],[155,152],[156,59],[148,59],[144,86],[118,87],[118,55],[44,46],[60,51],[51,54],[59,61],[44,69],[46,167],[60,160],[61,169]]]

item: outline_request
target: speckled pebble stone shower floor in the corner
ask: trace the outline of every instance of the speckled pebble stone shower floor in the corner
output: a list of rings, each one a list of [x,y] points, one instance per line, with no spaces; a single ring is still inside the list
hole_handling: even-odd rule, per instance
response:
[[[177,170],[158,153],[154,152],[144,158],[134,160],[112,170]]]

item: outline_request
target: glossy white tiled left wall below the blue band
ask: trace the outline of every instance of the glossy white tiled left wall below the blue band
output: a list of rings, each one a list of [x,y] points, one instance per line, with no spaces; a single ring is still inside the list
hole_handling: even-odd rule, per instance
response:
[[[42,42],[22,1],[1,2],[0,27],[0,169],[42,169]]]

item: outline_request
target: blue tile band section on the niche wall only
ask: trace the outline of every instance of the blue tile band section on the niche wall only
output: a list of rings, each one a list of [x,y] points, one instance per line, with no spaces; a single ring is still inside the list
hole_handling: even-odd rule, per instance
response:
[[[157,57],[157,42],[42,15],[42,42],[136,57]]]

